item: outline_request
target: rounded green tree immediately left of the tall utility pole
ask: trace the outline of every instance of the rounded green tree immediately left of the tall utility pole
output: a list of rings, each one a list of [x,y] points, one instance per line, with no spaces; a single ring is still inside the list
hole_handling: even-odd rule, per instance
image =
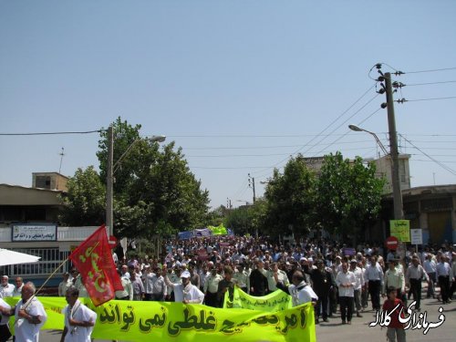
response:
[[[361,158],[344,160],[340,152],[326,156],[317,181],[318,222],[330,233],[358,235],[378,218],[384,180],[375,164]]]

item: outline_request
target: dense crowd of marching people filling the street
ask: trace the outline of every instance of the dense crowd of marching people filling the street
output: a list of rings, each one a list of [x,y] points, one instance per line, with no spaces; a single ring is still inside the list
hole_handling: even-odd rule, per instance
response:
[[[423,282],[428,284],[427,296],[438,298],[442,305],[451,302],[456,289],[456,252],[446,244],[420,251],[411,248],[402,259],[394,251],[386,253],[380,245],[347,248],[345,244],[310,239],[299,244],[277,244],[266,238],[236,236],[168,240],[163,250],[160,256],[143,258],[135,251],[121,258],[113,253],[123,285],[123,290],[116,292],[116,299],[223,307],[225,293],[233,300],[235,286],[254,296],[280,289],[292,296],[294,306],[311,302],[316,324],[320,320],[328,322],[338,309],[341,324],[350,325],[354,316],[360,317],[369,310],[369,298],[374,312],[382,309],[381,299],[386,297],[383,309],[399,302],[407,306],[413,297],[415,310],[420,311]],[[435,292],[436,285],[440,287],[439,294]],[[27,294],[35,291],[33,284],[24,285],[20,277],[16,278],[16,285],[9,284],[4,275],[0,298],[22,295],[25,303],[29,297],[24,296],[24,289]],[[77,269],[63,275],[58,295],[66,296],[68,302],[62,341],[71,340],[68,337],[75,326],[85,327],[89,336],[96,316],[78,301],[88,292]],[[21,313],[17,308],[21,305],[11,308],[0,301],[4,315],[0,329],[5,329],[8,315],[26,318],[25,322],[32,326],[39,326],[34,324],[35,319],[40,324],[41,319],[46,319],[42,312]],[[80,309],[75,310],[76,306]],[[398,341],[405,340],[403,331],[398,332],[400,326],[390,327],[390,340],[394,340],[392,334]],[[27,332],[34,333],[33,329]]]

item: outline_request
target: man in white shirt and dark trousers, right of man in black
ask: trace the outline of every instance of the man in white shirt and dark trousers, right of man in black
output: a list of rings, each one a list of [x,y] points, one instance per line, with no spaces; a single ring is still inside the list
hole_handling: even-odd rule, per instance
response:
[[[342,263],[342,272],[337,274],[336,284],[339,290],[340,317],[342,318],[342,324],[351,324],[351,317],[353,316],[353,298],[355,296],[357,278],[353,272],[348,271],[347,263]]]

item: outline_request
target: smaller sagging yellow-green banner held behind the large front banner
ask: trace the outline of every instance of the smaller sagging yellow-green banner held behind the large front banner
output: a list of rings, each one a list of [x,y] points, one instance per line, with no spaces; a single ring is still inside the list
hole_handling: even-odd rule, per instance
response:
[[[239,287],[234,286],[233,302],[230,302],[227,291],[225,292],[223,307],[275,312],[291,308],[292,301],[291,295],[287,295],[282,290],[276,290],[269,295],[257,297],[246,294]]]

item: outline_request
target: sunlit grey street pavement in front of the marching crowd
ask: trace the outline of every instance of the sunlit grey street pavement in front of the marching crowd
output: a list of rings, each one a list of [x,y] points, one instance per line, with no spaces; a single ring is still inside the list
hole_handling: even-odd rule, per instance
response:
[[[409,302],[411,303],[411,301]],[[370,306],[370,304],[369,304]],[[438,312],[441,303],[437,299],[424,299],[421,301],[421,312],[428,313],[429,322],[438,322]],[[445,315],[445,322],[434,329],[430,329],[427,335],[423,335],[423,329],[415,329],[407,331],[408,341],[439,341],[453,342],[456,336],[456,301],[449,305],[442,306]],[[379,326],[370,327],[369,323],[375,321],[373,311],[365,311],[362,318],[354,317],[351,326],[342,326],[338,316],[332,318],[328,323],[321,323],[316,326],[316,339],[318,342],[334,342],[334,341],[385,341],[386,328],[380,329]],[[41,341],[58,342],[60,340],[59,331],[43,331],[41,332]],[[95,340],[101,342],[105,340]],[[109,341],[109,340],[106,340]]]

